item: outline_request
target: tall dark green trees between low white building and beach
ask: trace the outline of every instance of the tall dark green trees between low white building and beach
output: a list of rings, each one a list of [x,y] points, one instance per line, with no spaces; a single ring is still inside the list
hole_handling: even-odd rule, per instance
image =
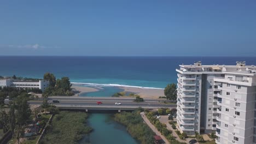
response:
[[[71,96],[74,93],[71,91],[72,84],[68,77],[62,77],[57,79],[51,73],[44,74],[44,80],[49,81],[49,87],[45,89],[44,96],[48,97],[51,95],[68,95]]]

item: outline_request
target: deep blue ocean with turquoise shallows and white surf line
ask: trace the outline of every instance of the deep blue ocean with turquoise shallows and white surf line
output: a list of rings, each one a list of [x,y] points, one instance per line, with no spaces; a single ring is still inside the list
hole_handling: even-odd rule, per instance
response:
[[[68,76],[71,82],[165,88],[177,82],[179,64],[235,65],[246,61],[256,65],[256,57],[90,57],[90,56],[0,56],[1,76],[43,78],[53,73]]]

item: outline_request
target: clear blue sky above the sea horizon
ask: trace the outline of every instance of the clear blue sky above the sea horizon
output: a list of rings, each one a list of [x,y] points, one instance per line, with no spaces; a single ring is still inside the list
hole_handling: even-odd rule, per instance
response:
[[[0,55],[256,56],[256,1],[1,1]]]

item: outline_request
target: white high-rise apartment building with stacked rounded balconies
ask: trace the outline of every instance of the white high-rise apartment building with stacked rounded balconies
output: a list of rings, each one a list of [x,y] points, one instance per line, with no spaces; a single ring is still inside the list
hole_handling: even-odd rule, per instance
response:
[[[256,143],[256,66],[179,66],[179,130],[188,135],[216,131],[216,143]]]

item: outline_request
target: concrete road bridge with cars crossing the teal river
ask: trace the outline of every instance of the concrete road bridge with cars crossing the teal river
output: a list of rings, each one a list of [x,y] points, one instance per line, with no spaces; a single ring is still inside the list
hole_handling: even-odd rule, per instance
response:
[[[113,98],[113,97],[49,97],[49,102],[58,100],[59,103],[52,103],[59,109],[65,110],[135,110],[138,107],[144,109],[158,109],[158,108],[175,108],[177,105],[172,103],[161,103],[158,99],[144,99],[143,102],[135,102],[134,98]],[[97,101],[101,101],[102,104],[97,104]],[[115,105],[115,103],[121,103],[121,105]],[[40,105],[42,100],[31,100],[31,105]]]

